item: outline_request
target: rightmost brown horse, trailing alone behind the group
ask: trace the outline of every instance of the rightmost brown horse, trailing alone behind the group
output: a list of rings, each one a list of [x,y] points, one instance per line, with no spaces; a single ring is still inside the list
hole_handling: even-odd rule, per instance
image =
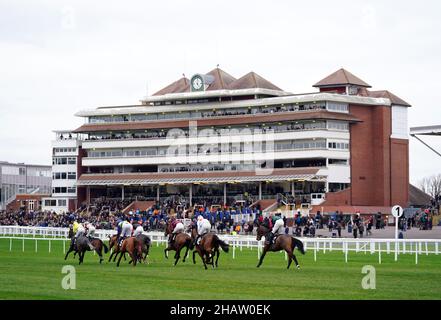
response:
[[[256,240],[260,241],[263,236],[265,236],[266,239],[268,239],[270,229],[264,225],[260,225],[257,228],[257,238]],[[297,269],[300,269],[299,262],[297,261],[296,256],[294,255],[294,248],[297,247],[299,251],[302,254],[305,254],[305,250],[303,249],[303,242],[299,239],[296,239],[292,236],[289,236],[287,234],[279,235],[275,240],[273,241],[273,244],[265,243],[265,247],[263,248],[262,255],[260,256],[259,263],[257,267],[259,268],[260,265],[263,262],[263,259],[265,258],[265,255],[268,251],[272,252],[278,252],[281,250],[285,250],[285,252],[288,254],[288,267],[289,269],[292,260],[296,263]]]

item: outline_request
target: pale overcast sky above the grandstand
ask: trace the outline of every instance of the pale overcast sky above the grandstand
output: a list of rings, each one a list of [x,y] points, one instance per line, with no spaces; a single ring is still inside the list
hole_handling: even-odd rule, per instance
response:
[[[0,160],[51,163],[52,130],[81,109],[136,104],[217,64],[284,90],[345,67],[441,124],[441,2],[0,0]],[[441,137],[425,138],[441,150]],[[410,140],[410,177],[441,158]]]

